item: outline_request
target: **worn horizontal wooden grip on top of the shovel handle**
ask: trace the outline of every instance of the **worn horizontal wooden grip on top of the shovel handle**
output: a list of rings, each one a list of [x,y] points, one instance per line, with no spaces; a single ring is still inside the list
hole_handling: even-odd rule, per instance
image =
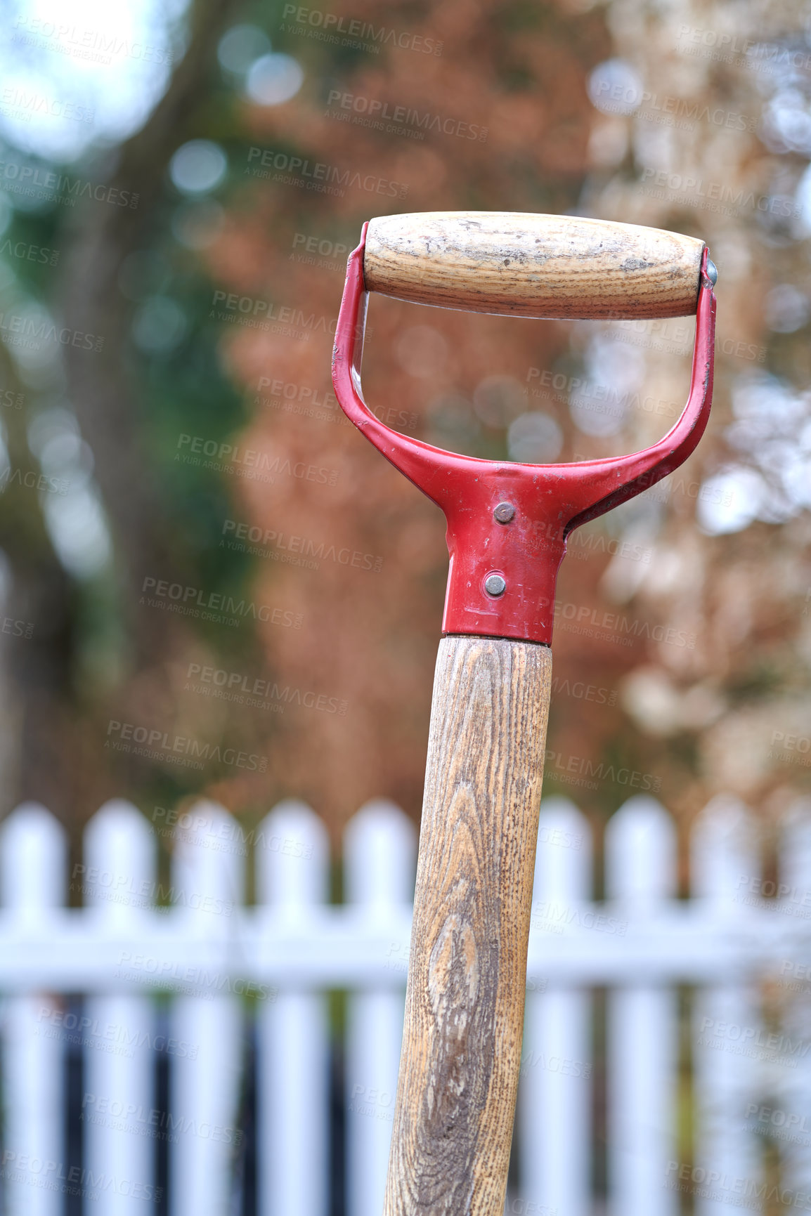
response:
[[[417,304],[535,317],[695,311],[704,242],[573,215],[415,212],[370,221],[370,291]]]

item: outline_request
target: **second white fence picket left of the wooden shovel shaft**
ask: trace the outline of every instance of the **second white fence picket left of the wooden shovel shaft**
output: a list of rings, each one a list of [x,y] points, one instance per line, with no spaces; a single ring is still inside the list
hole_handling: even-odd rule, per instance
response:
[[[328,896],[326,829],[303,803],[280,803],[257,841],[257,902],[287,929]],[[259,1002],[259,1212],[326,1216],[330,1064],[326,998],[286,987]]]

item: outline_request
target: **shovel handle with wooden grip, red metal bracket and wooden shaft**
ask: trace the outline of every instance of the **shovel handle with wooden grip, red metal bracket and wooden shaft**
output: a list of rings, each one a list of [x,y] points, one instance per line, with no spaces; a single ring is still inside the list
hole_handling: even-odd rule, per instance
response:
[[[450,552],[384,1216],[503,1214],[557,572],[574,528],[654,485],[698,444],[716,278],[694,237],[509,212],[373,219],[349,258],[338,401],[445,512]],[[364,401],[368,292],[519,317],[695,314],[687,405],[664,439],[630,456],[523,465],[443,451],[392,430]]]

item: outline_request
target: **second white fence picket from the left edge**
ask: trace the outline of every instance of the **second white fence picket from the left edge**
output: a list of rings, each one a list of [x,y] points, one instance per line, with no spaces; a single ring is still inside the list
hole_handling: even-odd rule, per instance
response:
[[[137,942],[143,912],[153,903],[154,863],[154,834],[143,816],[131,803],[106,803],[85,829],[81,872],[98,938]],[[148,996],[94,995],[85,1017],[81,1110],[89,1176],[117,1180],[100,1197],[105,1216],[145,1216],[154,1209],[154,1137],[165,1135],[151,1116],[153,1003]],[[100,1204],[89,1201],[85,1210],[95,1212]]]

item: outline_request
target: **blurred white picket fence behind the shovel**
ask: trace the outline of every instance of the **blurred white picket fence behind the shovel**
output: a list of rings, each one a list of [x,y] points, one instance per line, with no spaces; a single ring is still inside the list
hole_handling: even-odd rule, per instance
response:
[[[0,827],[4,1216],[61,1216],[68,1192],[83,1197],[81,1211],[103,1216],[236,1216],[249,1017],[257,1211],[338,1210],[328,1181],[327,992],[336,989],[349,993],[345,1210],[379,1216],[409,953],[411,823],[383,801],[355,815],[342,905],[327,902],[327,839],[303,804],[281,804],[247,840],[210,803],[157,828],[173,834],[168,891],[157,878],[156,831],[128,803],[108,803],[91,820],[71,872],[66,837],[43,807],[21,806]],[[603,1054],[612,1216],[675,1216],[680,1189],[693,1193],[697,1216],[730,1205],[775,1210],[768,1136],[779,1147],[782,1201],[811,1207],[811,807],[795,806],[782,824],[779,886],[762,882],[755,822],[728,798],[694,827],[689,900],[675,897],[674,824],[654,800],[632,798],[610,820],[599,902],[592,848],[576,807],[545,800],[506,1211],[604,1210],[591,1183],[592,1128],[602,1119],[593,1062]],[[81,908],[66,907],[69,882]],[[167,901],[171,907],[157,906]],[[692,1031],[680,1042],[682,985],[694,992]],[[601,987],[604,1053],[595,1042]],[[85,993],[84,1004],[67,1006],[66,993]],[[80,1166],[66,1155],[69,1048],[84,1059]],[[168,1114],[154,1092],[159,1051]],[[686,1144],[677,1128],[691,1108]],[[167,1198],[156,1184],[158,1141]]]

